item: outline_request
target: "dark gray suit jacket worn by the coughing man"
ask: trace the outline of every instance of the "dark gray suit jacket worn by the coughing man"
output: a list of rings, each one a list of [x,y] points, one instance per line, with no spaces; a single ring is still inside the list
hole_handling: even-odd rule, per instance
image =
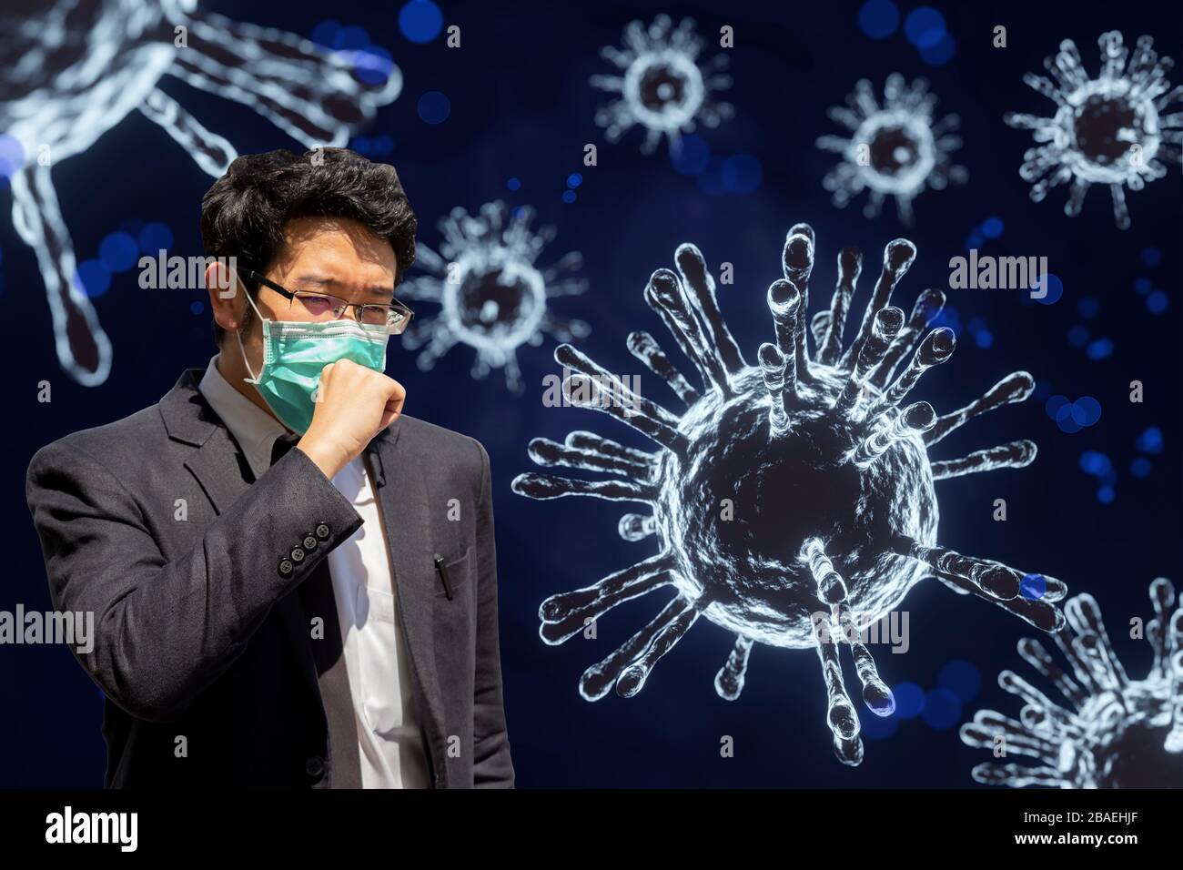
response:
[[[335,773],[353,785],[356,743],[329,740],[308,614],[291,593],[328,571],[362,520],[299,450],[253,481],[201,374],[187,369],[160,404],[66,436],[28,466],[53,606],[95,613],[93,651],[75,656],[106,696],[105,785],[327,788]],[[406,414],[366,452],[432,782],[512,787],[489,456]]]

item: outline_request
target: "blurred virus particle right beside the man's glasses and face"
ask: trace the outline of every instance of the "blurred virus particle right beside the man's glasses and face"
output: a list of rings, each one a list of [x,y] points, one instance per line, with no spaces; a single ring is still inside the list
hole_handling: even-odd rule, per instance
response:
[[[537,347],[543,334],[571,341],[592,331],[583,321],[560,317],[547,307],[547,299],[587,290],[587,281],[571,275],[583,257],[573,251],[551,266],[536,265],[555,228],[534,231],[532,219],[532,208],[519,207],[511,214],[502,201],[486,202],[477,215],[457,207],[439,223],[440,253],[419,244],[416,265],[429,275],[409,278],[399,295],[442,307],[439,316],[413,323],[403,333],[407,349],[424,348],[420,369],[433,368],[452,346],[467,344],[477,352],[473,378],[504,368],[505,386],[521,394],[519,347]]]

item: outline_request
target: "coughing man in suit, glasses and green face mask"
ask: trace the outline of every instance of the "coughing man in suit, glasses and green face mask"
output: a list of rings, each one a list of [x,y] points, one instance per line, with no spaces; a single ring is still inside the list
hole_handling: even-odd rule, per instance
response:
[[[415,230],[390,166],[239,157],[202,201],[219,353],[33,457],[106,786],[512,787],[489,456],[383,374]]]

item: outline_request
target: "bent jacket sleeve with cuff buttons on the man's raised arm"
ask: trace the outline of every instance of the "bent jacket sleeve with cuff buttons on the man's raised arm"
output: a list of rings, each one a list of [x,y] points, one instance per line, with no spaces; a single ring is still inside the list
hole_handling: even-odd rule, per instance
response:
[[[75,656],[112,702],[149,721],[180,716],[246,649],[271,606],[362,524],[300,450],[172,561],[143,505],[71,438],[37,452],[25,496],[53,606],[93,613],[92,651]],[[321,523],[329,537],[283,575],[283,559]]]

